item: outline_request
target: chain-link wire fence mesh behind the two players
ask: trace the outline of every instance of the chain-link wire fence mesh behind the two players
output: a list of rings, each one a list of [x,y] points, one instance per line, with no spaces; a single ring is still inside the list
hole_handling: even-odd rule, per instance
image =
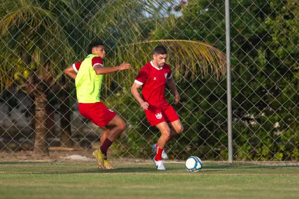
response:
[[[230,1],[233,160],[299,159],[298,14],[294,0]],[[93,40],[105,43],[104,67],[133,66],[104,77],[101,100],[128,124],[110,156],[153,156],[160,134],[130,89],[161,44],[184,126],[169,158],[228,160],[224,0],[2,0],[0,20],[0,160],[91,158],[99,148],[102,130],[80,115],[63,74]]]

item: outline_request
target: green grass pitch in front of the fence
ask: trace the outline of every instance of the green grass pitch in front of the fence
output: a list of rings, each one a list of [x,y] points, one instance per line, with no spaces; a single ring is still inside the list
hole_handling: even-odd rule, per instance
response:
[[[298,166],[204,163],[122,163],[101,171],[96,163],[0,162],[3,199],[292,199],[299,196]]]

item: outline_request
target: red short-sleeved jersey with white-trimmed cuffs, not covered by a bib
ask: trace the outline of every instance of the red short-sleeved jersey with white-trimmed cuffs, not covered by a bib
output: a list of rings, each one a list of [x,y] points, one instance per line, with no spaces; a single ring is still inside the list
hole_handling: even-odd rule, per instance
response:
[[[165,86],[166,80],[170,78],[171,72],[168,64],[157,68],[150,61],[139,71],[135,83],[142,85],[144,101],[147,101],[149,105],[164,108],[169,105],[165,97]]]

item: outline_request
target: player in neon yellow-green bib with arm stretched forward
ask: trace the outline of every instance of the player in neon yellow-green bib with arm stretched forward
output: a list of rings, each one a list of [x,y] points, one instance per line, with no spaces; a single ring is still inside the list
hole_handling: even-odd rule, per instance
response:
[[[125,130],[125,121],[113,110],[100,101],[103,75],[116,71],[132,69],[128,63],[105,68],[103,59],[105,50],[103,43],[92,42],[87,49],[88,56],[79,63],[68,67],[64,72],[75,79],[79,111],[104,131],[101,135],[101,147],[94,151],[99,168],[113,169],[107,160],[107,150],[116,138]]]

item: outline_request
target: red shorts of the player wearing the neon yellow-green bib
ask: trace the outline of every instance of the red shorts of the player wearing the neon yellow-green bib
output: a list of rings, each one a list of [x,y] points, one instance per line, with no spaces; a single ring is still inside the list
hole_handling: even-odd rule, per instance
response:
[[[116,115],[102,102],[79,103],[79,111],[83,117],[89,119],[98,126],[106,126]]]

